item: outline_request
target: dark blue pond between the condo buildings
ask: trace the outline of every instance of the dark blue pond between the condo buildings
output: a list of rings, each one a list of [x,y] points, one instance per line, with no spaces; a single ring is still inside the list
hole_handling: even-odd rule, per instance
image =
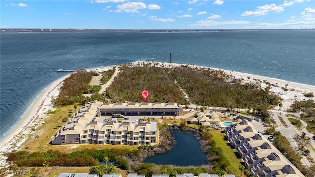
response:
[[[149,157],[143,163],[176,166],[200,166],[207,164],[206,155],[201,152],[200,144],[193,136],[193,133],[173,131],[171,134],[176,140],[175,147],[165,154]]]

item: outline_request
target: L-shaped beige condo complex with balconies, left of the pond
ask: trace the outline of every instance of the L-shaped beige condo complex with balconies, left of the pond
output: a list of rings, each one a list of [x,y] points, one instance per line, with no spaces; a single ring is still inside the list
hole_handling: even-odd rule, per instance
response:
[[[78,110],[60,128],[52,145],[100,144],[100,145],[156,145],[158,143],[157,122],[109,122],[99,117],[103,103],[92,101]]]

